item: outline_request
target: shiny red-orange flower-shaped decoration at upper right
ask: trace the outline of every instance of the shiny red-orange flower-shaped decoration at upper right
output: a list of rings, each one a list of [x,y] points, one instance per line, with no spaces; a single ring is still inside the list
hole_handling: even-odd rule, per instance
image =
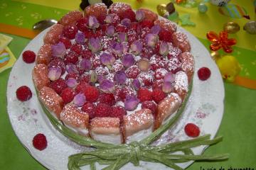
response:
[[[218,51],[223,48],[227,53],[233,52],[232,46],[236,44],[236,40],[234,38],[228,39],[228,32],[220,31],[218,35],[213,31],[209,31],[206,36],[210,42],[213,42],[210,45],[210,50]]]

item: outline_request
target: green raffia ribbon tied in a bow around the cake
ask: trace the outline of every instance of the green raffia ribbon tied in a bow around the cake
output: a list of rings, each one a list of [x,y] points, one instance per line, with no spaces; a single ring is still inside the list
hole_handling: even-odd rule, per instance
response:
[[[184,140],[181,142],[173,142],[170,144],[151,146],[151,142],[154,142],[159,138],[166,130],[171,128],[176,120],[180,117],[183,109],[185,108],[188,96],[191,93],[191,85],[188,89],[188,95],[185,98],[182,106],[179,108],[176,115],[169,120],[168,123],[161,125],[161,127],[144,138],[140,142],[131,142],[123,145],[112,145],[106,142],[98,142],[92,140],[90,137],[84,137],[73,132],[69,128],[65,127],[63,123],[56,119],[47,109],[43,106],[43,110],[48,116],[50,123],[60,131],[63,135],[77,142],[79,145],[86,147],[95,147],[95,150],[90,152],[82,152],[79,154],[70,155],[68,158],[68,169],[79,170],[81,166],[90,165],[91,170],[95,170],[95,163],[107,165],[103,170],[118,170],[128,162],[139,166],[139,161],[144,162],[158,162],[165,164],[173,169],[180,170],[181,168],[176,163],[194,161],[211,161],[211,160],[223,160],[228,159],[228,154],[216,154],[216,155],[194,155],[191,150],[192,147],[198,147],[201,145],[213,145],[221,140],[223,137],[215,137],[210,140],[210,135],[203,135],[196,137],[192,140]],[[183,154],[175,154],[176,152],[183,152]]]

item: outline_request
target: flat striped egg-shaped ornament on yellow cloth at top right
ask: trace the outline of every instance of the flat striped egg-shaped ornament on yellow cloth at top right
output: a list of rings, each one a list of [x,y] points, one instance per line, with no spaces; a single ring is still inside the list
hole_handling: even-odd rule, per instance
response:
[[[227,4],[223,7],[220,7],[218,11],[224,16],[230,18],[247,18],[250,19],[250,16],[247,15],[247,11],[242,6],[235,4]]]

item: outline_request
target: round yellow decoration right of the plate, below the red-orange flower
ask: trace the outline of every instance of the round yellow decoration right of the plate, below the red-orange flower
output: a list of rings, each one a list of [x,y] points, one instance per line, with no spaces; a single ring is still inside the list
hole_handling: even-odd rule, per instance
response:
[[[238,76],[239,72],[241,71],[238,60],[236,60],[232,55],[220,57],[216,63],[220,69],[223,79],[228,82],[235,81],[235,77]]]

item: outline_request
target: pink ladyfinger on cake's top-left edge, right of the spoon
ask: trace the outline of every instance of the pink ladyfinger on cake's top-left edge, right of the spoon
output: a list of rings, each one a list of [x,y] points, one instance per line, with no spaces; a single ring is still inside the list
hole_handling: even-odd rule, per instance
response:
[[[60,24],[63,26],[73,26],[82,17],[83,15],[80,11],[70,11],[60,18]]]

